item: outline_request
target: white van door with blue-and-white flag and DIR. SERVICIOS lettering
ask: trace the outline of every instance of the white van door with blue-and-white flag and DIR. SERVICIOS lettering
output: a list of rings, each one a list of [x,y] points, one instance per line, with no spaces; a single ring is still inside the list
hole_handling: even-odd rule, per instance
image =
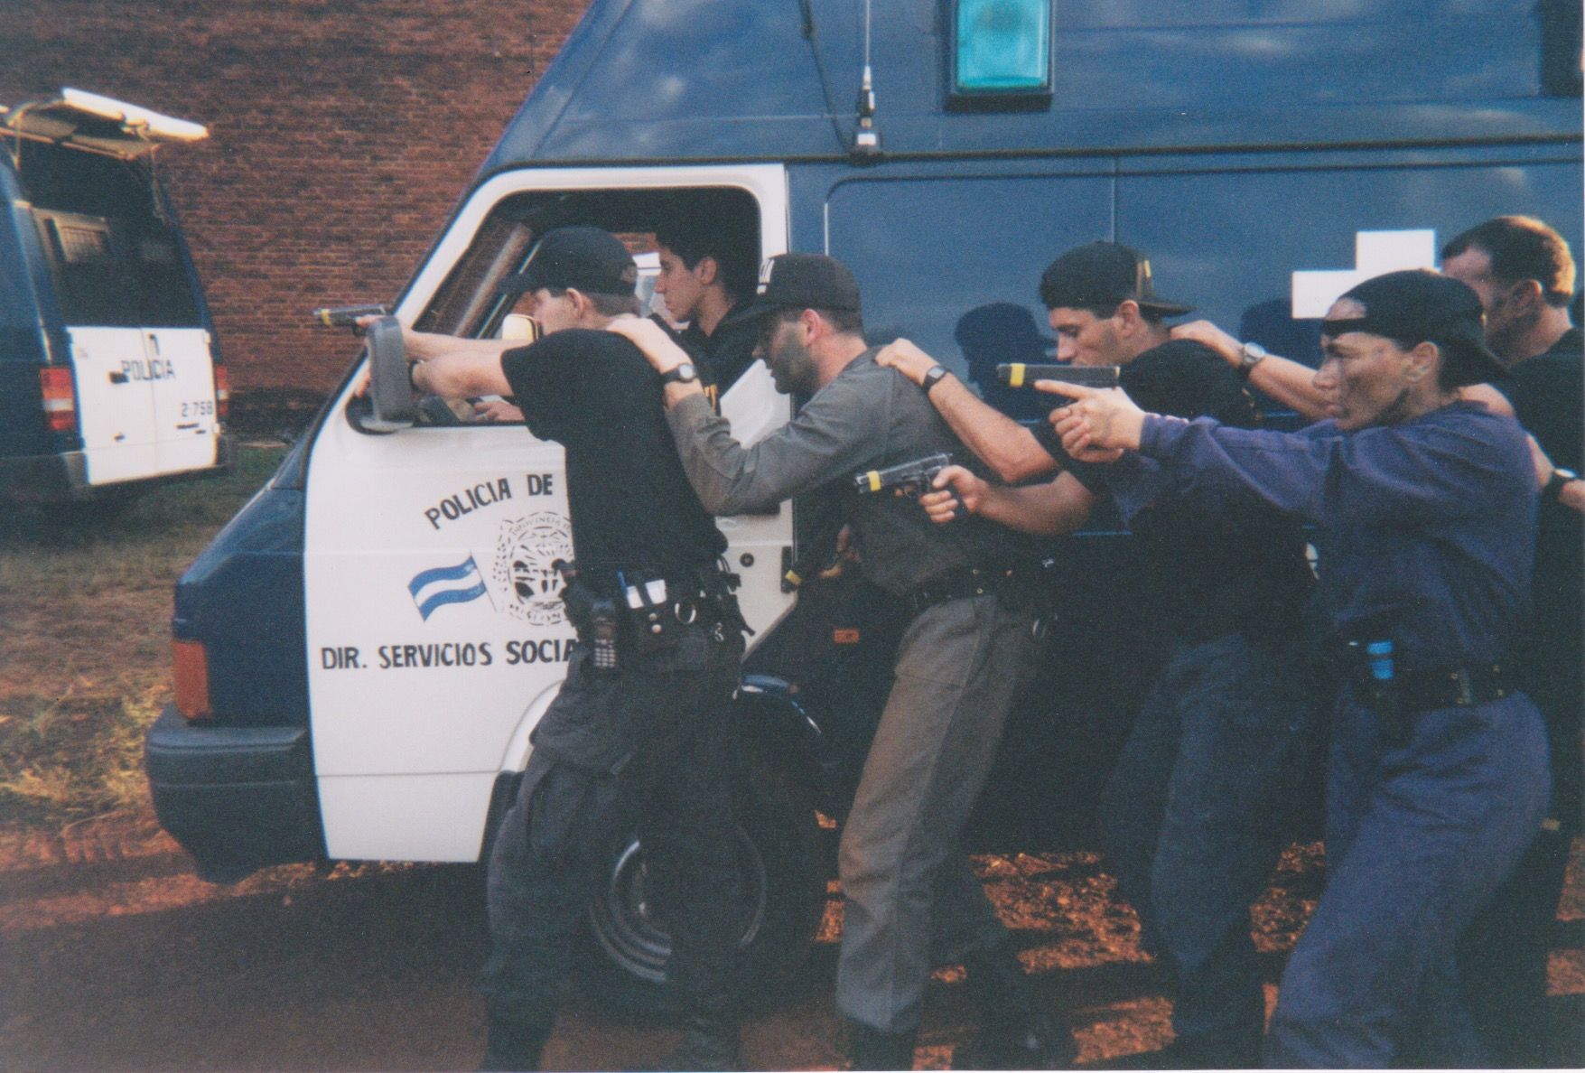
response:
[[[464,203],[398,317],[495,334],[510,314],[498,282],[539,233],[588,222],[639,241],[667,193],[702,187],[742,192],[762,252],[786,249],[780,166],[520,170]],[[572,553],[563,452],[520,423],[458,425],[437,409],[437,423],[368,434],[347,403],[312,445],[303,564],[325,845],[331,857],[474,861],[496,777],[526,762],[574,639],[552,567]],[[789,414],[758,363],[723,407],[743,439]],[[764,628],[789,604],[791,512],[723,531]]]

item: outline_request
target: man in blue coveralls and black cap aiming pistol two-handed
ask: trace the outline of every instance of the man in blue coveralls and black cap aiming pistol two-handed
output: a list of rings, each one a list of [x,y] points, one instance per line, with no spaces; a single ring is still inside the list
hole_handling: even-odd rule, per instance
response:
[[[1300,433],[1140,410],[1068,385],[1052,418],[1114,487],[1209,510],[1254,499],[1317,526],[1342,663],[1327,788],[1327,889],[1282,975],[1276,1067],[1482,1065],[1458,994],[1460,932],[1536,832],[1541,713],[1517,689],[1534,547],[1525,433],[1461,401],[1503,376],[1480,301],[1430,271],[1377,276],[1322,322],[1327,417]]]

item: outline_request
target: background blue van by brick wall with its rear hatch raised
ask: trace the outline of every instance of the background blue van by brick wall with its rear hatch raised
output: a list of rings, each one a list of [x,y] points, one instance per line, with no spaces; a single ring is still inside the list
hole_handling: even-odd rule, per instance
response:
[[[206,136],[76,89],[0,109],[0,499],[120,507],[230,468],[225,366],[154,171]]]

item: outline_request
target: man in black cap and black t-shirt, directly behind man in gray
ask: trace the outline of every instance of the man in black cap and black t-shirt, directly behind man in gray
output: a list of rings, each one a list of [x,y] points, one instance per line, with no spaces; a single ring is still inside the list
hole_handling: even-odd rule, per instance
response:
[[[1119,365],[1132,396],[1186,418],[1252,426],[1243,385],[1205,347],[1168,341],[1163,317],[1189,307],[1155,295],[1149,262],[1114,242],[1068,250],[1046,269],[1040,298],[1057,358]],[[1167,658],[1135,718],[1100,807],[1108,867],[1138,910],[1146,948],[1176,976],[1171,1068],[1249,1067],[1265,1024],[1249,905],[1282,850],[1285,805],[1298,788],[1317,724],[1298,666],[1300,604],[1311,586],[1298,528],[1246,504],[1209,514],[1171,498],[1110,487],[1108,466],[1075,463],[1048,423],[1033,431],[976,399],[934,358],[899,341],[881,352],[997,469],[1021,480],[1062,468],[1054,482],[994,487],[949,469],[964,507],[1016,529],[1071,533],[1108,496],[1135,534],[1130,559],[1148,594],[1140,642],[1159,629]],[[924,499],[932,517],[957,510]]]

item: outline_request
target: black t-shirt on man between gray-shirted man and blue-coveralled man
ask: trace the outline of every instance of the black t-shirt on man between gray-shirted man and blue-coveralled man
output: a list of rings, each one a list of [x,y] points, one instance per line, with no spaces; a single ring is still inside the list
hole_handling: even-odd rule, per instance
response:
[[[1252,428],[1260,415],[1243,382],[1208,347],[1173,339],[1122,366],[1122,388],[1140,407],[1171,417],[1214,417]],[[1049,422],[1035,439],[1086,488],[1106,491],[1113,468],[1081,463],[1062,450]],[[1129,509],[1129,528],[1141,544],[1146,593],[1159,626],[1184,640],[1208,640],[1230,629],[1292,639],[1312,586],[1300,529],[1270,507],[1228,502],[1206,509],[1167,499]],[[1124,507],[1125,504],[1119,504]]]

